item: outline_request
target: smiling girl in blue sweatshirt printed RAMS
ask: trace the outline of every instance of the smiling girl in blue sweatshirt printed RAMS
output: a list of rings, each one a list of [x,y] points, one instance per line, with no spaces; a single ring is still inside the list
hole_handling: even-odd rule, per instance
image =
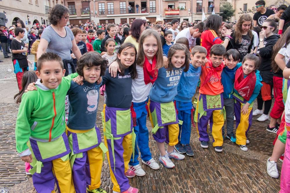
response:
[[[184,159],[184,155],[175,151],[178,143],[178,117],[173,99],[177,95],[177,86],[182,71],[189,69],[189,51],[182,44],[175,44],[168,51],[168,69],[158,70],[157,80],[149,93],[149,116],[152,124],[153,138],[160,151],[159,161],[166,168],[174,168],[172,159]],[[168,143],[165,151],[164,142]]]

